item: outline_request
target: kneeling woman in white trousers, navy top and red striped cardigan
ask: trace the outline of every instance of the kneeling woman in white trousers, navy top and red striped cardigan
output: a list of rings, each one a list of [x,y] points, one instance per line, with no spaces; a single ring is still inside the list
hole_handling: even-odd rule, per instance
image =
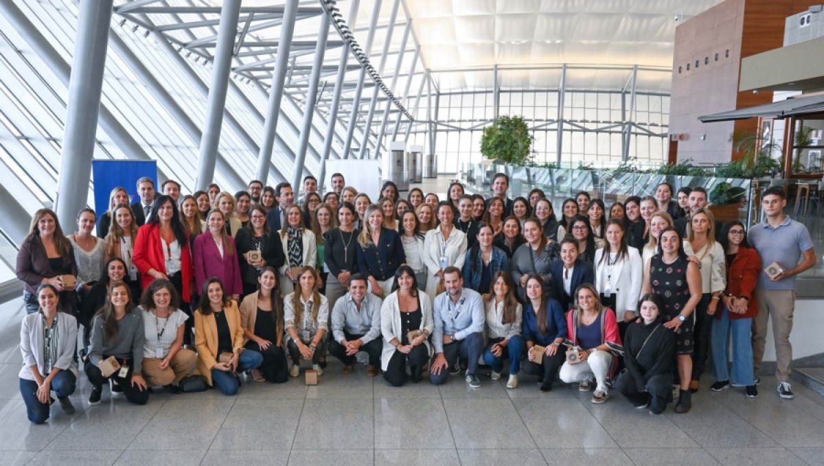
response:
[[[601,304],[595,286],[584,283],[575,296],[578,305],[567,314],[567,329],[578,355],[574,361],[567,358],[561,366],[560,378],[567,384],[580,382],[582,392],[589,391],[595,379],[592,403],[604,403],[608,398],[606,377],[615,361],[606,343],[620,347],[618,322],[615,312]]]

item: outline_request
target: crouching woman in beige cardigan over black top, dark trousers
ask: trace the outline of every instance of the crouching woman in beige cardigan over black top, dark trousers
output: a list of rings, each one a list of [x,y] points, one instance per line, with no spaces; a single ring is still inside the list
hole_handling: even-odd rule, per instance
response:
[[[259,351],[263,364],[252,370],[255,382],[269,380],[283,384],[289,379],[286,352],[283,351],[283,298],[278,288],[278,273],[263,268],[258,277],[258,291],[241,303],[241,327],[246,349]]]

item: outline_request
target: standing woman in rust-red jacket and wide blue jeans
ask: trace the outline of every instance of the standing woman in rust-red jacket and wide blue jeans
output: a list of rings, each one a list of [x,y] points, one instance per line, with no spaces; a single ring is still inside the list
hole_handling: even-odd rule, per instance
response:
[[[758,315],[756,284],[761,272],[761,258],[747,245],[747,231],[740,221],[728,221],[721,227],[719,243],[727,254],[727,289],[723,309],[715,313],[712,330],[713,372],[718,380],[709,389],[719,392],[730,386],[729,338],[733,334],[734,385],[746,387],[747,397],[756,398],[755,375],[752,373],[752,319]]]

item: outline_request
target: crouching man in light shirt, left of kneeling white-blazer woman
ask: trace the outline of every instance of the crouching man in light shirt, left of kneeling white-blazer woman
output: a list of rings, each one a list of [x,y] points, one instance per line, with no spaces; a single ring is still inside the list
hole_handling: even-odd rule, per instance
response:
[[[381,367],[381,298],[367,292],[366,277],[349,277],[349,292],[332,309],[332,340],[329,353],[344,363],[344,374],[354,370],[359,351],[369,355],[366,373],[377,375]]]

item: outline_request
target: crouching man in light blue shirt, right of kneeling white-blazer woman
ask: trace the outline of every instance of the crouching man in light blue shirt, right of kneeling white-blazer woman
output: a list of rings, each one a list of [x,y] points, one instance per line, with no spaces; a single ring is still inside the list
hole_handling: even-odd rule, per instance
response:
[[[435,385],[446,382],[448,368],[455,366],[461,356],[469,360],[466,383],[477,389],[480,387],[476,375],[478,360],[484,352],[484,303],[477,291],[463,287],[459,268],[443,269],[443,285],[446,291],[436,296],[433,304],[435,357],[429,381]]]

